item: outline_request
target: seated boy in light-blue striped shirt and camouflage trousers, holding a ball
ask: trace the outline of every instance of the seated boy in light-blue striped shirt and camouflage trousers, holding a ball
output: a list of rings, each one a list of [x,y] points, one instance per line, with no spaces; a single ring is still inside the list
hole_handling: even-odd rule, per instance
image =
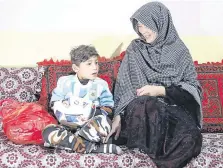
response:
[[[44,145],[79,153],[115,153],[121,148],[103,144],[111,130],[108,115],[114,106],[106,81],[97,77],[96,49],[80,45],[70,52],[75,75],[60,77],[52,92],[50,105],[60,125],[43,130]]]

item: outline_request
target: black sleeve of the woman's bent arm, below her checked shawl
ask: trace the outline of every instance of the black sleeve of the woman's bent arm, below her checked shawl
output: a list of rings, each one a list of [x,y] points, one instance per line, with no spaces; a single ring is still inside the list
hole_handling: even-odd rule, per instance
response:
[[[188,91],[182,89],[180,86],[171,85],[166,87],[165,100],[168,104],[176,104],[184,107],[192,117],[197,120],[197,110],[199,110],[199,104]]]

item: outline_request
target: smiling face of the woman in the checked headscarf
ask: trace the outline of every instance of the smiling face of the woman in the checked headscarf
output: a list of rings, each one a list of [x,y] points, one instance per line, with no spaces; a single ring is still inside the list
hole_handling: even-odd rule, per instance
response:
[[[139,33],[141,33],[143,35],[143,37],[146,39],[147,43],[152,43],[157,37],[156,32],[147,28],[142,23],[138,23],[138,30],[139,30]]]

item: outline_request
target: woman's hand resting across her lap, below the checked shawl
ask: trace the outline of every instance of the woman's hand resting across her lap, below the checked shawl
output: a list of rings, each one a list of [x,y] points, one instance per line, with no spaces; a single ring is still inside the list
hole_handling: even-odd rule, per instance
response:
[[[166,90],[164,86],[146,85],[136,90],[137,96],[165,96]]]

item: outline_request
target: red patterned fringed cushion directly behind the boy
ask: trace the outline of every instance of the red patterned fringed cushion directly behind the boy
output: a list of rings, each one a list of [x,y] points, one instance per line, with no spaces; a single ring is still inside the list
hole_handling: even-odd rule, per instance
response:
[[[115,78],[118,73],[119,66],[121,64],[123,55],[115,57],[114,59],[106,59],[104,57],[99,57],[99,74],[98,76],[104,79],[109,86],[109,89],[113,92]],[[53,61],[52,59],[47,61],[37,63],[39,66],[45,68],[45,73],[42,79],[42,90],[40,94],[39,103],[48,108],[49,99],[51,97],[52,90],[57,85],[57,80],[61,76],[66,76],[69,74],[74,74],[71,62],[68,60]]]

